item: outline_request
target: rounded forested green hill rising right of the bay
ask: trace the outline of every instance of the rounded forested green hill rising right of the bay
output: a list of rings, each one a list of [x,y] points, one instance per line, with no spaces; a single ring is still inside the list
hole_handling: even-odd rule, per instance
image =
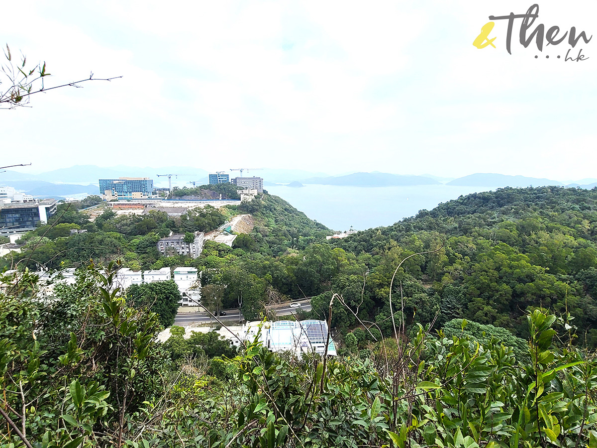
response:
[[[467,195],[333,244],[371,256],[374,279],[392,251],[399,260],[433,250],[441,244],[439,235],[446,238],[441,251],[405,263],[402,275],[427,287],[429,302],[418,304],[415,320],[438,312],[440,324],[466,317],[525,336],[525,313],[542,306],[569,311],[595,346],[597,189],[505,188]]]

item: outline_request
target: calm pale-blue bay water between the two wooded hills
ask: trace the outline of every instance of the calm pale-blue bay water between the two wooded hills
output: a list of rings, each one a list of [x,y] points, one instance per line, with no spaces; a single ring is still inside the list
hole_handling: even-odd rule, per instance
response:
[[[420,210],[431,210],[460,195],[491,191],[498,187],[416,185],[359,187],[309,184],[300,188],[267,186],[311,219],[334,230],[364,230],[391,225]]]

